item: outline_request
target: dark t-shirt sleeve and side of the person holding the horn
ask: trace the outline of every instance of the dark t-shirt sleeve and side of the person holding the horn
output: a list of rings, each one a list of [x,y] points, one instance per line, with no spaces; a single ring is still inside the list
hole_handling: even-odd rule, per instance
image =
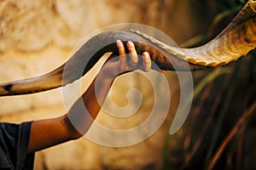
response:
[[[31,123],[0,123],[0,169],[33,169],[34,153],[27,153]]]

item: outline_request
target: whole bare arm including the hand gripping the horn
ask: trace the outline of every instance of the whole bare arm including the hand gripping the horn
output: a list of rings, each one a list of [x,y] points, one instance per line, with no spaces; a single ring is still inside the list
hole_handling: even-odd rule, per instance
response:
[[[125,56],[124,44],[118,40],[116,45],[119,48],[119,60],[109,60],[103,65],[102,70],[96,76],[97,81],[95,79],[82,96],[88,113],[80,111],[79,101],[76,101],[64,116],[32,122],[28,152],[42,150],[68,140],[79,139],[87,132],[93,119],[101,110],[101,105],[115,77],[127,71],[150,70],[151,59],[147,52],[143,53],[143,65],[138,65],[137,52],[132,42],[126,44],[129,50],[129,59]],[[76,127],[73,126],[70,117],[79,120],[76,122]]]

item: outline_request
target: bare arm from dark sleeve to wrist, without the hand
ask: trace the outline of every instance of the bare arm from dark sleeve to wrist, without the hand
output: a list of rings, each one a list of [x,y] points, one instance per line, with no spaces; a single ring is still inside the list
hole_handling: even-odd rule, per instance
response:
[[[43,150],[83,136],[101,110],[112,82],[113,78],[105,77],[100,72],[82,98],[73,104],[66,115],[32,122],[29,152]]]

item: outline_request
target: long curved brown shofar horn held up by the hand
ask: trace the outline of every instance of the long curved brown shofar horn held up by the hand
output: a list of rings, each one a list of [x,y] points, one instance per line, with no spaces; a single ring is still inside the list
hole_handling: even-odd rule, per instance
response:
[[[152,61],[158,66],[153,66],[154,70],[195,71],[209,66],[226,65],[256,47],[255,10],[256,2],[250,0],[218,37],[198,48],[171,47],[139,31],[101,32],[84,42],[84,45],[55,71],[41,77],[0,84],[0,96],[33,94],[74,82],[90,71],[103,54],[113,52],[113,56],[117,55],[118,50],[114,43],[117,39],[122,42],[134,42],[138,54],[148,51]],[[98,50],[98,47],[103,48]]]

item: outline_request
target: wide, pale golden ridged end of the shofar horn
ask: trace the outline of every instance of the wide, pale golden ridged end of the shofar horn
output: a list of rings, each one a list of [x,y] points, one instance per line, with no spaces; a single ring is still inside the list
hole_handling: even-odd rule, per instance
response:
[[[256,47],[256,1],[250,0],[236,18],[211,42],[198,48],[161,48],[203,66],[226,65],[246,55]]]

